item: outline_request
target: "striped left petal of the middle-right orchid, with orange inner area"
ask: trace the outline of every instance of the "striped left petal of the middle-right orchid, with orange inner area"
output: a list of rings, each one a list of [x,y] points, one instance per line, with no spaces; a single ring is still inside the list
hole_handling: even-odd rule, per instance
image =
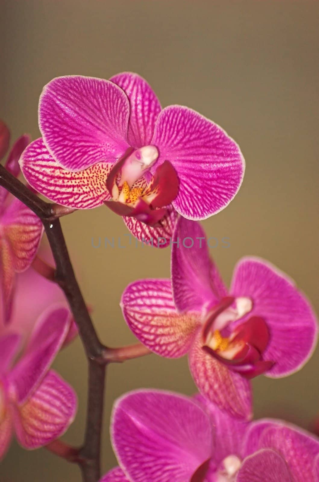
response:
[[[189,350],[199,316],[176,312],[170,280],[134,281],[124,290],[121,308],[133,334],[154,353],[178,358]]]

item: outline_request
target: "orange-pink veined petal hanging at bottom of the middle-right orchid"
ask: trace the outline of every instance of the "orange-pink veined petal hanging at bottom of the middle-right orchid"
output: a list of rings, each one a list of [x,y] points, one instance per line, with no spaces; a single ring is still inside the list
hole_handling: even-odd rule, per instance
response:
[[[252,416],[251,385],[201,348],[200,331],[189,352],[189,369],[200,393],[237,418]]]

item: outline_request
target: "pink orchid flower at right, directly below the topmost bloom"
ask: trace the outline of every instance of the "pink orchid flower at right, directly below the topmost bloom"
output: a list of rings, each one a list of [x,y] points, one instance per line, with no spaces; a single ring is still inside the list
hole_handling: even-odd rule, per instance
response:
[[[189,240],[194,245],[186,248]],[[318,325],[310,304],[284,273],[253,257],[239,260],[228,293],[199,223],[182,217],[171,269],[172,280],[135,281],[125,289],[127,324],[161,356],[188,353],[199,391],[222,410],[249,418],[249,378],[290,375],[311,356]]]

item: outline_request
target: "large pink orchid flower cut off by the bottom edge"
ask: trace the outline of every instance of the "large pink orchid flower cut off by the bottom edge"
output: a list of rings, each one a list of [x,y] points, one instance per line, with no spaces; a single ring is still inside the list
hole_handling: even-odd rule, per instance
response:
[[[200,396],[128,393],[111,440],[120,467],[100,482],[317,481],[317,438],[279,420],[239,421]]]

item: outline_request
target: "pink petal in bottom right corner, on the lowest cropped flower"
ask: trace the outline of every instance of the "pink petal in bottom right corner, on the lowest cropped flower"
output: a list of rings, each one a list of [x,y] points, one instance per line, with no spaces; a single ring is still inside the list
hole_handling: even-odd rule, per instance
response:
[[[319,454],[319,439],[299,427],[279,420],[254,422],[246,434],[245,453],[273,448],[286,460],[296,481],[316,482],[313,464]]]

